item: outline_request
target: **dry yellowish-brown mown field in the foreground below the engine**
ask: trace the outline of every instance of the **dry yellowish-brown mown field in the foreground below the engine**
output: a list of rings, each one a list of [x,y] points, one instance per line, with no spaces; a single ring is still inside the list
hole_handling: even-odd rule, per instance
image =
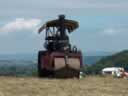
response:
[[[128,80],[112,77],[0,77],[0,96],[128,96]]]

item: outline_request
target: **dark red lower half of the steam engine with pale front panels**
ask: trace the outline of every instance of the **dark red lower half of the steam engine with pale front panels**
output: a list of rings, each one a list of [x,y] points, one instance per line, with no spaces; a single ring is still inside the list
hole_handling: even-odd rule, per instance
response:
[[[48,53],[40,51],[38,54],[38,76],[53,78],[79,78],[81,60],[78,54]]]

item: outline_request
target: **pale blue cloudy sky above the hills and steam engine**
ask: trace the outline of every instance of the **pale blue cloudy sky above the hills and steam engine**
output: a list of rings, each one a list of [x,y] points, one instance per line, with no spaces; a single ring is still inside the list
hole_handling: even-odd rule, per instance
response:
[[[70,34],[83,52],[128,49],[128,0],[0,0],[0,53],[44,50],[37,30],[59,14],[79,22]]]

